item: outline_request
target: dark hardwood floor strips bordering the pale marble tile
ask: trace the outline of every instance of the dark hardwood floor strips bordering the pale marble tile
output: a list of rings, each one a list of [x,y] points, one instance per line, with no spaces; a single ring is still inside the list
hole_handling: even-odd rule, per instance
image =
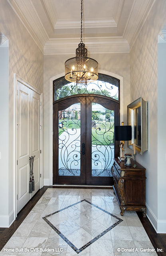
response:
[[[14,232],[26,218],[28,213],[32,210],[32,208],[35,206],[35,204],[38,202],[38,200],[41,198],[41,196],[48,188],[55,187],[44,186],[33,196],[33,198],[24,206],[24,208],[22,208],[22,210],[18,213],[16,220],[13,222],[10,228],[0,228],[0,250],[2,250],[2,248],[8,242],[10,237],[14,234]],[[97,189],[99,189],[99,187]],[[142,212],[137,212],[137,214],[138,217],[140,218],[140,221],[142,222],[142,225],[144,226],[144,229],[146,230],[146,233],[150,238],[150,241],[152,242],[154,248],[156,249],[158,256],[166,256],[166,234],[157,234],[148,218],[143,218]],[[163,252],[157,251],[158,249],[162,249]]]

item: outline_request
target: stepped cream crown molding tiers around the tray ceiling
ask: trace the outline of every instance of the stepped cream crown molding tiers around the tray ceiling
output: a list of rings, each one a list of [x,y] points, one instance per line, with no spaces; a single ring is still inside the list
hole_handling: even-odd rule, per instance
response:
[[[44,24],[42,23],[42,18],[40,19],[38,10],[34,6],[33,1],[34,0],[7,0],[41,52],[44,54],[75,54],[75,49],[80,39],[50,38],[51,34],[47,34]],[[133,0],[124,33],[117,37],[85,38],[88,51],[90,53],[129,52],[155,2],[156,0]],[[96,35],[114,33],[115,35],[123,12],[124,3],[124,0],[119,0],[115,20],[113,18],[85,20],[84,28],[87,30],[85,34],[89,34],[90,36],[90,34],[92,35],[94,33]],[[41,0],[41,4],[44,6],[51,28],[54,32],[56,31],[55,34],[59,34],[59,36],[60,34],[63,34],[63,36],[65,36],[65,34],[77,34],[77,30],[80,29],[80,20],[57,20],[53,2],[51,0]],[[102,31],[102,33],[100,33],[100,31]]]

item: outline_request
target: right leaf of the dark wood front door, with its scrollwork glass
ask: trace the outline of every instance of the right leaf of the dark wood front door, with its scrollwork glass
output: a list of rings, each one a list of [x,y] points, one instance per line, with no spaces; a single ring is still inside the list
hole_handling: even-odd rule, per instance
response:
[[[119,125],[119,103],[87,96],[86,106],[86,184],[112,185],[111,166],[113,158],[119,154],[119,145],[114,142],[114,127]],[[106,112],[111,112],[112,122],[106,118]]]

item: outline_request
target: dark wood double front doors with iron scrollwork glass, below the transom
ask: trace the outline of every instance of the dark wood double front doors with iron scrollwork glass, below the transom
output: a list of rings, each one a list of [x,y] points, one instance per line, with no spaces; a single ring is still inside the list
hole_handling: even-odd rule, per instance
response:
[[[53,184],[112,185],[119,154],[114,127],[119,102],[102,95],[73,95],[53,103]]]

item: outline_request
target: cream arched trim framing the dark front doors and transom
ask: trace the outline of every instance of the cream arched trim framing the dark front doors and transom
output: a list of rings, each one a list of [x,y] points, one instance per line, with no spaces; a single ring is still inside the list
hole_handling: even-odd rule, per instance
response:
[[[105,70],[99,70],[99,73],[110,75],[112,77],[115,77],[120,80],[120,123],[123,121],[124,118],[124,101],[123,101],[123,77],[120,75],[117,75],[115,73],[105,71]],[[51,186],[53,185],[53,162],[52,162],[52,156],[53,156],[53,81],[58,79],[59,77],[63,77],[65,73],[61,73],[58,75],[55,75],[49,79],[49,181],[44,182],[44,185]]]

